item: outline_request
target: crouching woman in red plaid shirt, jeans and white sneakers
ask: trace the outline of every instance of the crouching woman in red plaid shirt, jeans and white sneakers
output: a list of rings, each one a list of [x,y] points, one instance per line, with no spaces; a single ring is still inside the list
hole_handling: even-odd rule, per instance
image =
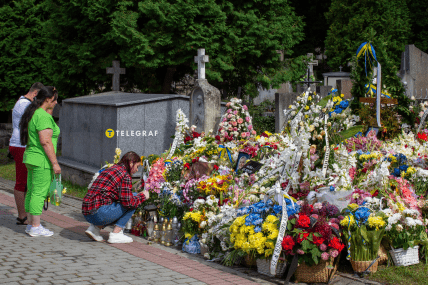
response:
[[[115,224],[109,243],[128,243],[132,238],[123,234],[123,228],[141,203],[149,198],[144,191],[132,192],[132,174],[138,171],[141,158],[133,151],[125,153],[118,164],[102,171],[83,199],[82,213],[91,223],[86,235],[103,241],[100,229]]]

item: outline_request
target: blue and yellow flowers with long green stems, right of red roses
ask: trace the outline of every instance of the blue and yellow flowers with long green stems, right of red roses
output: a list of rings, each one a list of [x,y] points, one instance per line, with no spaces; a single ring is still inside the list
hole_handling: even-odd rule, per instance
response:
[[[366,271],[369,266],[368,270],[376,272],[378,251],[385,234],[385,214],[354,203],[344,211],[346,216],[340,225],[348,244],[347,259],[351,259],[355,272]]]

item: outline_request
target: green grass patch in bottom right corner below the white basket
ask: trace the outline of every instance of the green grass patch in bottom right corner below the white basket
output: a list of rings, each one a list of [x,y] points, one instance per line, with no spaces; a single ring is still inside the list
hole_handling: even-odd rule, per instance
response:
[[[419,263],[406,267],[379,267],[378,272],[368,276],[367,278],[388,285],[425,285],[428,284],[428,265]]]

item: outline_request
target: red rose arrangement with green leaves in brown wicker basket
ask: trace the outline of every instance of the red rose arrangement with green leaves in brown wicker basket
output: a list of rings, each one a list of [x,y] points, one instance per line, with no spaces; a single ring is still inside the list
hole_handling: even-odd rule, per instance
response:
[[[282,248],[286,256],[298,258],[298,282],[328,282],[336,272],[334,260],[345,248],[338,214],[339,209],[329,203],[305,203],[299,214],[290,217]]]

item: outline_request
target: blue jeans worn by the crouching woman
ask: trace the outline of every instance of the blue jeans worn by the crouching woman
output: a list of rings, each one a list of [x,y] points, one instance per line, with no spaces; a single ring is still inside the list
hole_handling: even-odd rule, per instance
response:
[[[94,226],[108,226],[115,224],[123,229],[134,214],[135,210],[136,209],[125,208],[122,204],[114,202],[111,205],[101,206],[95,213],[84,215],[84,217]]]

